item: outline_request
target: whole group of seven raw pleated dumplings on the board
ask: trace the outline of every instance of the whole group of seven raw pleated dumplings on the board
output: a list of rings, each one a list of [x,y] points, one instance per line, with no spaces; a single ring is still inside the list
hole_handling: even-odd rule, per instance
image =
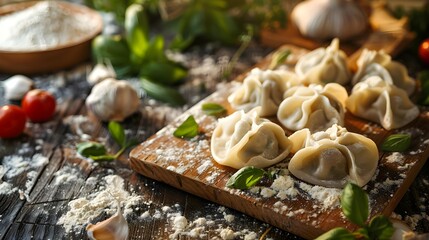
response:
[[[211,137],[214,160],[236,169],[265,168],[292,154],[288,169],[305,182],[366,185],[378,149],[371,139],[347,131],[345,112],[390,130],[413,121],[419,109],[409,98],[415,80],[388,54],[364,50],[357,66],[353,74],[334,39],[302,56],[295,72],[253,69],[228,97],[235,112],[218,120]],[[293,134],[287,137],[284,129]]]

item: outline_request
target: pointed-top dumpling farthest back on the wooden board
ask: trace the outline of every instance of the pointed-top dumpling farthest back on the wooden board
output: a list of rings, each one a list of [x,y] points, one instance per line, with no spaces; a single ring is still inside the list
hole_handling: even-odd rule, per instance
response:
[[[351,79],[347,56],[339,49],[339,40],[333,39],[327,48],[318,48],[302,56],[295,65],[302,83],[346,85]]]

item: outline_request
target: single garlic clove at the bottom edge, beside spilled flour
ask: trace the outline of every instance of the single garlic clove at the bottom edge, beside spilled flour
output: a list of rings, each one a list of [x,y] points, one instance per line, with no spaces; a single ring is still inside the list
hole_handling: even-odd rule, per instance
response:
[[[89,224],[86,227],[88,237],[93,240],[126,240],[128,232],[128,223],[122,215],[119,203],[118,210],[113,216],[95,225]]]

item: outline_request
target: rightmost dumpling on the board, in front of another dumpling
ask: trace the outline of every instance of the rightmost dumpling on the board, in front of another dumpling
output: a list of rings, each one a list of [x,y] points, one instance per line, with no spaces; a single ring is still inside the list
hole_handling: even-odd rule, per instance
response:
[[[355,116],[379,123],[390,130],[400,128],[419,115],[419,109],[407,93],[379,76],[357,83],[346,101]]]

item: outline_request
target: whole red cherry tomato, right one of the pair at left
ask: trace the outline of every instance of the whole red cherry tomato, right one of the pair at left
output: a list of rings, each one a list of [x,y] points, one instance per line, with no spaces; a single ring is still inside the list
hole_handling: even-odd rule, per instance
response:
[[[54,116],[55,97],[41,89],[33,89],[22,99],[22,109],[32,122],[46,122]]]

